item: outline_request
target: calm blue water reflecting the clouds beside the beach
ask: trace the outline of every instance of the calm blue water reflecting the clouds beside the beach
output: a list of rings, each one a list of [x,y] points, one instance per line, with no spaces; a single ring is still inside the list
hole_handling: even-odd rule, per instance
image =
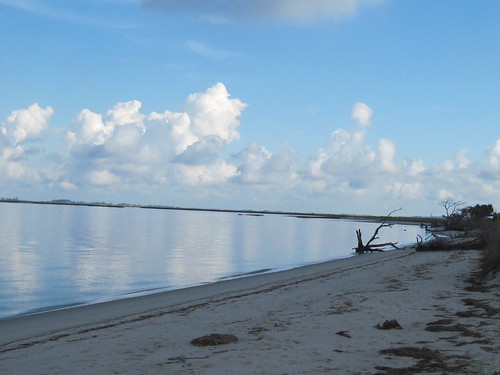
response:
[[[353,255],[376,224],[281,215],[0,204],[0,318]],[[384,228],[412,243],[418,226]]]

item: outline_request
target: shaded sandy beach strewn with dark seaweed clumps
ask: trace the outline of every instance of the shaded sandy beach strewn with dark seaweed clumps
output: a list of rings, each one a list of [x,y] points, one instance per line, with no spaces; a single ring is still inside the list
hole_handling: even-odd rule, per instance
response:
[[[2,320],[0,374],[493,374],[500,278],[467,280],[479,256],[367,254]],[[191,344],[214,333],[235,342]]]

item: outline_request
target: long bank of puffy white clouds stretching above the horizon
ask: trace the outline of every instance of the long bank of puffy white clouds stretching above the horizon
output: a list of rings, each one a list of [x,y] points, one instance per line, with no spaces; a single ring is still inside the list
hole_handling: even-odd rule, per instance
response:
[[[461,149],[426,166],[401,156],[391,139],[368,144],[374,111],[358,102],[351,111],[354,123],[333,130],[305,161],[292,146],[273,152],[256,141],[228,155],[227,146],[241,137],[246,107],[217,83],[189,95],[177,112],[143,113],[137,100],[104,113],[83,109],[64,131],[63,147],[43,152],[34,146],[50,143],[58,132],[49,126],[54,110],[35,103],[0,124],[0,187],[45,188],[57,197],[94,194],[95,200],[122,194],[136,202],[144,202],[144,194],[175,190],[192,206],[205,197],[211,206],[228,208],[373,208],[379,214],[385,206],[429,214],[418,210],[448,197],[500,205],[500,139],[486,145],[484,163]],[[159,203],[175,204],[169,195],[159,196]]]

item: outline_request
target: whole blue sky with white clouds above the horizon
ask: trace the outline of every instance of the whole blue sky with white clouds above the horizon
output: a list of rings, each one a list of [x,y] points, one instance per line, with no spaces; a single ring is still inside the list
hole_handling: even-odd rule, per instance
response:
[[[0,0],[0,196],[500,210],[498,0]]]

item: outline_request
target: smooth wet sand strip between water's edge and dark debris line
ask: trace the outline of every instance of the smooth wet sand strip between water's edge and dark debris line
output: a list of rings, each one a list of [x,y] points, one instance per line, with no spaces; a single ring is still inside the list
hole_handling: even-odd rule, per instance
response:
[[[215,282],[189,286],[186,288],[139,296],[123,296],[123,298],[109,301],[69,305],[60,309],[6,317],[0,319],[0,332],[2,332],[0,336],[0,347],[6,342],[25,339],[30,337],[30,335],[39,336],[58,330],[74,328],[75,324],[98,324],[106,320],[120,319],[161,308],[172,308],[177,305],[197,301],[198,299],[231,293],[235,290],[259,289],[273,283],[283,283],[296,278],[311,277],[325,272],[336,272],[339,269],[363,267],[372,262],[383,262],[393,258],[405,257],[413,254],[414,250],[398,250],[397,254],[395,252],[396,250],[374,254],[354,254],[348,258],[308,264],[286,270],[276,270],[268,273],[259,273],[235,278],[230,276],[227,279],[220,279]],[[377,259],[372,259],[372,257],[375,258],[377,255]],[[122,312],[117,313],[116,310]],[[65,323],[68,320],[78,323]],[[28,332],[28,330],[26,330],[27,327],[29,327],[29,334],[21,333],[19,335],[19,333],[16,333]]]

